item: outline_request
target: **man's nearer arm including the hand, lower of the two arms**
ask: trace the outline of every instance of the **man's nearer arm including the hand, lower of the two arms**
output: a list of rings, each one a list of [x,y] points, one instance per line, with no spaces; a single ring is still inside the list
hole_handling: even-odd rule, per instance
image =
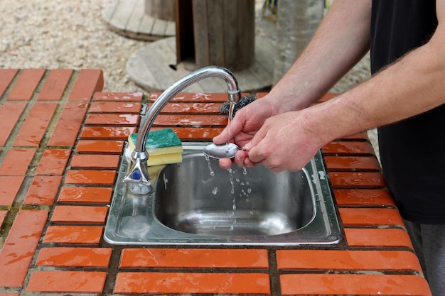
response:
[[[245,145],[249,158],[243,163],[260,162],[276,172],[299,170],[316,150],[336,138],[407,119],[444,104],[445,0],[436,1],[436,13],[439,25],[429,42],[367,82],[328,102],[267,119]]]

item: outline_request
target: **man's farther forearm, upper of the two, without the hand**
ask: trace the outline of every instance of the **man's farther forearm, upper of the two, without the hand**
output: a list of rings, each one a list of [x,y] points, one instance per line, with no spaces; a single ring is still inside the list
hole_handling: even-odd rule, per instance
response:
[[[270,92],[277,113],[309,106],[369,49],[370,0],[336,0],[304,53]]]

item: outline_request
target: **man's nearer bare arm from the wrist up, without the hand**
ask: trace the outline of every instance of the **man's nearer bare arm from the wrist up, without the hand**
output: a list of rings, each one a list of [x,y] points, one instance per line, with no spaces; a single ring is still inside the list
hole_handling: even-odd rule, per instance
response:
[[[428,43],[337,99],[307,109],[304,118],[323,132],[321,143],[407,119],[445,103],[444,0],[436,1],[436,13],[439,24]]]

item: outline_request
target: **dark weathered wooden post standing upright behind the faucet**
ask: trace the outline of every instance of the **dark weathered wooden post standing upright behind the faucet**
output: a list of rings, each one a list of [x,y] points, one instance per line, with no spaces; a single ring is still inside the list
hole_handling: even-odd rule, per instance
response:
[[[193,0],[195,67],[235,72],[254,62],[254,0]]]

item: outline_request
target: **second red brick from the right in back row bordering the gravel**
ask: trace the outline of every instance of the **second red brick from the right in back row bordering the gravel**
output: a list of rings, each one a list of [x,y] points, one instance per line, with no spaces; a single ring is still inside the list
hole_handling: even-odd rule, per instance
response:
[[[59,101],[72,74],[72,69],[51,70],[38,95],[38,101]]]

